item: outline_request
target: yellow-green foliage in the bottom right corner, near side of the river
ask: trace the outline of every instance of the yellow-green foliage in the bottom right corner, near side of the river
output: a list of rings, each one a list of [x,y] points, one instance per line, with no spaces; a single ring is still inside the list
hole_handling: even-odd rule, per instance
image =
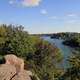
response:
[[[70,67],[59,80],[80,80],[80,52],[74,52],[68,59]]]

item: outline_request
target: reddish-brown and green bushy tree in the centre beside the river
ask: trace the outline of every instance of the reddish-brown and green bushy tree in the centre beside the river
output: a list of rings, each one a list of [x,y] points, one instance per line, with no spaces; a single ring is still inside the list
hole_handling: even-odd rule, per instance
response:
[[[41,80],[54,80],[54,72],[57,73],[58,70],[56,70],[56,63],[61,59],[58,51],[56,47],[39,39],[35,44],[34,54],[27,56],[30,65]]]

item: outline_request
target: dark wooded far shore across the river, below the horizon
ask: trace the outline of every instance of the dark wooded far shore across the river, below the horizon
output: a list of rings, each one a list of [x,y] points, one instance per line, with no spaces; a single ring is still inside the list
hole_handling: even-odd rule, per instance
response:
[[[80,33],[65,32],[51,35],[53,39],[63,39],[63,44],[72,48],[80,48]]]

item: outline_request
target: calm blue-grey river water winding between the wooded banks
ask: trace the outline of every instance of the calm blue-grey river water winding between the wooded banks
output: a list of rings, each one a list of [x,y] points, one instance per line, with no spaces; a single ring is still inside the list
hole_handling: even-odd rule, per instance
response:
[[[62,44],[63,40],[61,40],[61,39],[51,39],[50,37],[42,37],[42,39],[48,41],[49,43],[51,43],[53,45],[55,44],[55,46],[60,49],[62,56],[63,56],[61,66],[64,68],[67,68],[69,66],[67,59],[68,59],[68,56],[70,56],[70,54],[72,53],[71,48],[63,45]]]

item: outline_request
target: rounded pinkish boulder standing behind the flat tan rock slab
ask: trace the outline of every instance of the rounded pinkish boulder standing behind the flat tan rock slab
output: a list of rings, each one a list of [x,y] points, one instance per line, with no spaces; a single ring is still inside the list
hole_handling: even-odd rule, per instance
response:
[[[6,55],[4,56],[4,58],[6,60],[6,64],[11,64],[15,66],[17,72],[24,70],[24,60],[23,59],[18,58],[17,56],[13,54]]]

